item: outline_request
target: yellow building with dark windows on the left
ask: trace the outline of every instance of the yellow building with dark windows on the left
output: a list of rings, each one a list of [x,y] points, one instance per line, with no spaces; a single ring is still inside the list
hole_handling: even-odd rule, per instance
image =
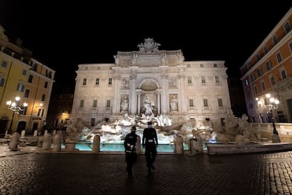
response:
[[[31,133],[46,125],[55,71],[32,58],[22,41],[10,42],[0,25],[0,134]],[[15,107],[6,102],[16,101]],[[23,103],[27,106],[24,107]]]

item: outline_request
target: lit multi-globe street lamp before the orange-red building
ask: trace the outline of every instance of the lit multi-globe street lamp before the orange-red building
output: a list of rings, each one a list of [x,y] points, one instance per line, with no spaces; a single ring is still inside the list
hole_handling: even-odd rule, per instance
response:
[[[275,126],[275,120],[273,117],[273,110],[278,108],[279,105],[279,100],[275,99],[275,98],[271,98],[270,94],[266,94],[266,100],[268,101],[266,105],[263,104],[263,102],[261,100],[259,100],[259,98],[256,98],[257,100],[257,104],[261,109],[268,109],[267,114],[268,116],[270,116],[270,119],[272,120],[273,123],[273,134],[278,135],[276,126]]]

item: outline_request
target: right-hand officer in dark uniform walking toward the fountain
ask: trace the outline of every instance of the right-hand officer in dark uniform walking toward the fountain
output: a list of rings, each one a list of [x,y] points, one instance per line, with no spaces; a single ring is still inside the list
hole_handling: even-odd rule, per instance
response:
[[[148,127],[143,131],[142,146],[145,147],[146,166],[148,169],[154,169],[153,162],[157,155],[158,139],[156,130],[152,123],[148,122]]]

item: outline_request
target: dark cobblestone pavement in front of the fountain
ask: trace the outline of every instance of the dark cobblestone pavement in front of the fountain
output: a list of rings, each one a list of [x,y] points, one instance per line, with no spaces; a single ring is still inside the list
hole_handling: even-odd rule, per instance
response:
[[[292,194],[292,151],[245,155],[159,154],[152,173],[139,155],[0,152],[0,194]]]

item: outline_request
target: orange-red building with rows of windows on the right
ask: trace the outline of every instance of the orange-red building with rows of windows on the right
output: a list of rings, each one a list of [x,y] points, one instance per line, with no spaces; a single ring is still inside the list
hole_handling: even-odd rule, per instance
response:
[[[276,122],[292,123],[292,8],[241,66],[245,103],[252,122],[270,122],[266,94],[279,100]],[[263,102],[261,107],[258,102]]]

